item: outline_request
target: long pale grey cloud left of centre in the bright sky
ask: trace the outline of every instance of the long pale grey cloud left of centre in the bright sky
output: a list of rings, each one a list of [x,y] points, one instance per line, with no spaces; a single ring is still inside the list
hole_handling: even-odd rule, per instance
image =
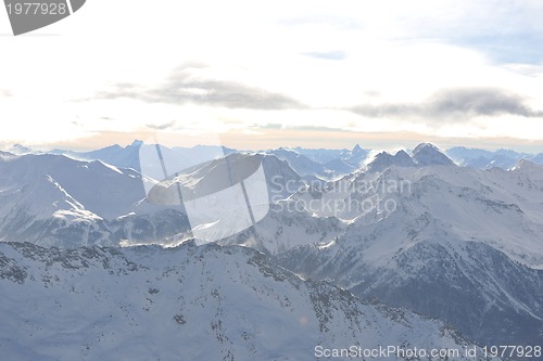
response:
[[[199,66],[200,68],[203,65]],[[195,103],[229,108],[286,109],[303,108],[296,100],[257,87],[236,81],[197,77],[184,66],[174,72],[161,86],[143,88],[135,83],[117,83],[114,89],[97,94],[99,99],[131,98],[149,103]]]

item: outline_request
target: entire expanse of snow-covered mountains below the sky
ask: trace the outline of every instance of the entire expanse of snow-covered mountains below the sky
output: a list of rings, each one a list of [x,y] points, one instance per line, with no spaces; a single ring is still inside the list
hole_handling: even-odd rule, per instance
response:
[[[191,359],[315,360],[319,343],[543,338],[538,156],[504,169],[447,156],[491,153],[429,143],[395,154],[17,149],[25,155],[0,153],[2,354],[66,359],[55,349],[67,345],[77,359],[172,359],[157,349],[180,339]],[[85,305],[97,309],[74,323]],[[146,330],[156,348],[138,346]],[[204,340],[209,349],[191,348]]]

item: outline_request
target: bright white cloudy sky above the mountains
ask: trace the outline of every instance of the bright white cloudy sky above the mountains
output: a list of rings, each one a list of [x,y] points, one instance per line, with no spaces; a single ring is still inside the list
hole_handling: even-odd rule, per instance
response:
[[[13,37],[0,147],[543,152],[543,1],[87,0]]]

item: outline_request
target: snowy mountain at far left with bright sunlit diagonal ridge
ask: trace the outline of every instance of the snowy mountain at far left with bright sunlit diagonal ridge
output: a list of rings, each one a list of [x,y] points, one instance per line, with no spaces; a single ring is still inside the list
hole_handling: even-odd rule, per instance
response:
[[[64,156],[0,157],[0,237],[48,244],[77,236],[108,243],[104,219],[123,215],[142,198],[138,176]]]

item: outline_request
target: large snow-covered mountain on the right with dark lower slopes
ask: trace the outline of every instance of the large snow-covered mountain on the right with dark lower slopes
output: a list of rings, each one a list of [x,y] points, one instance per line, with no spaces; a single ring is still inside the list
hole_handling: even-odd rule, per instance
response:
[[[435,154],[424,159],[294,195],[302,205],[339,205],[320,216],[350,225],[329,244],[287,250],[278,261],[359,296],[441,318],[488,345],[539,341],[543,167],[522,160],[510,171],[483,171]]]

